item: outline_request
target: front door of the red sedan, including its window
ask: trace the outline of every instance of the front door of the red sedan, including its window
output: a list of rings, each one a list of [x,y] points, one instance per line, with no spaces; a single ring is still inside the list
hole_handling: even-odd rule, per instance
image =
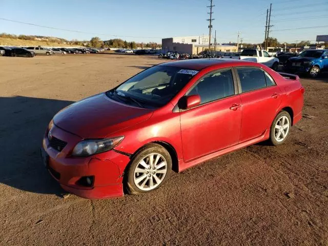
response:
[[[201,104],[180,112],[183,160],[224,149],[238,143],[241,101],[232,69],[204,75],[186,93],[199,95]]]

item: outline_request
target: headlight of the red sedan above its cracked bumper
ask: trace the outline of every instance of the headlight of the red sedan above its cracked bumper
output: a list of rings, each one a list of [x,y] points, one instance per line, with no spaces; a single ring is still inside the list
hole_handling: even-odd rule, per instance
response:
[[[88,139],[78,142],[74,147],[73,156],[89,156],[105,151],[109,151],[120,144],[124,136],[105,138],[105,139]]]

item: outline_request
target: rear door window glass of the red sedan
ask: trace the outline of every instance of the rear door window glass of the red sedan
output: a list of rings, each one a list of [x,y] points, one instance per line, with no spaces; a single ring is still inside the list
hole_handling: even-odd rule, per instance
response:
[[[258,68],[237,68],[241,92],[254,91],[267,87],[264,72]]]

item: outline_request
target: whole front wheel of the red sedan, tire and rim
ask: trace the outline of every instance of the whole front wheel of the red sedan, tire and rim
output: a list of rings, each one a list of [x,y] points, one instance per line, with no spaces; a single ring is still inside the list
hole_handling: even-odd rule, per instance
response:
[[[125,172],[125,188],[133,195],[149,193],[163,185],[171,170],[169,152],[158,144],[146,145],[135,153]]]

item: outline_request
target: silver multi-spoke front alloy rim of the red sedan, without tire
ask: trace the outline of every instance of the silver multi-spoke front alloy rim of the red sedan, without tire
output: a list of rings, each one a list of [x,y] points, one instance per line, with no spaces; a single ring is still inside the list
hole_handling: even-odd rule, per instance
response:
[[[150,191],[160,185],[167,172],[168,163],[165,157],[151,153],[139,161],[134,170],[133,181],[138,189]]]

